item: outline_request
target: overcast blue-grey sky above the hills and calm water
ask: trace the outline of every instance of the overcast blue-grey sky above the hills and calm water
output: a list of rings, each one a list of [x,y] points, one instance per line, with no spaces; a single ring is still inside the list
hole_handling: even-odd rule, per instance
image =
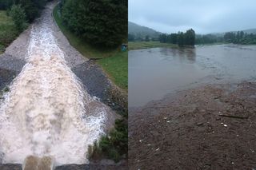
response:
[[[256,28],[256,0],[129,0],[129,21],[164,33]]]

